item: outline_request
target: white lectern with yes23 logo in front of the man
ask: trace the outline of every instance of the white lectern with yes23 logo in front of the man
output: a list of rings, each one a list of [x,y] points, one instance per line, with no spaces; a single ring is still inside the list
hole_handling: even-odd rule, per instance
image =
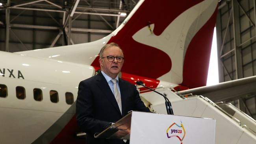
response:
[[[130,139],[130,144],[214,144],[215,120],[132,111],[95,137]]]

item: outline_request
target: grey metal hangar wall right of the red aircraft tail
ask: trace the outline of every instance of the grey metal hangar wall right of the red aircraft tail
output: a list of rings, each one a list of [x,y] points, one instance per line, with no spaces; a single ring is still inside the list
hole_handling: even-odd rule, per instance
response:
[[[255,3],[219,1],[216,29],[220,82],[256,75]],[[232,103],[256,119],[256,92],[240,96]]]

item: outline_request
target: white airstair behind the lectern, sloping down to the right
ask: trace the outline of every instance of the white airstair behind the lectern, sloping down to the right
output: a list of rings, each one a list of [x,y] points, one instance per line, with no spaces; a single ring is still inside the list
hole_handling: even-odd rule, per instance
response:
[[[215,144],[256,144],[256,121],[239,109],[224,103],[221,107],[203,96],[188,96],[187,98],[166,88],[156,89],[166,94],[172,103],[175,115],[214,118],[216,120]],[[155,113],[166,113],[165,101],[155,92],[140,92],[142,99]],[[219,103],[220,104],[220,103]],[[232,109],[233,113],[227,112]],[[234,112],[235,111],[235,112]]]

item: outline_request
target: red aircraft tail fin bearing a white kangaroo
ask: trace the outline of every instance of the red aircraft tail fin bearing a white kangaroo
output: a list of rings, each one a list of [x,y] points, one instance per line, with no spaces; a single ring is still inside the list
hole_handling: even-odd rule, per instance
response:
[[[206,85],[217,0],[145,0],[108,41],[124,51],[122,72]],[[99,66],[98,58],[92,63]]]

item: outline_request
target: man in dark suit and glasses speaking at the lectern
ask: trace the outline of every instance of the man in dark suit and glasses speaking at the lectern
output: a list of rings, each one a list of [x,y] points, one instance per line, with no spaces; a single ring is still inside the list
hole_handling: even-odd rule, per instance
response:
[[[94,138],[94,134],[102,132],[128,111],[149,112],[149,109],[141,101],[135,85],[118,78],[124,55],[117,44],[103,46],[99,63],[102,71],[79,84],[76,120],[87,134],[86,144],[124,144],[123,140]]]

